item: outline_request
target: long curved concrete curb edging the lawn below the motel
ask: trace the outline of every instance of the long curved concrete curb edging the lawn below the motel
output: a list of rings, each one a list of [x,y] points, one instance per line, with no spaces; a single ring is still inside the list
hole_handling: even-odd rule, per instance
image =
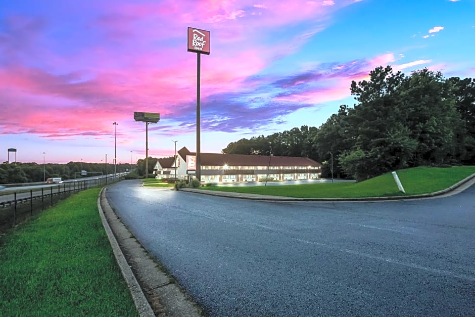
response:
[[[177,191],[198,193],[211,196],[239,198],[248,200],[262,200],[262,201],[320,201],[320,202],[338,202],[338,201],[388,201],[388,200],[410,200],[410,199],[422,199],[422,198],[434,198],[442,195],[449,194],[455,191],[459,187],[472,181],[475,183],[475,173],[460,180],[460,182],[450,186],[441,191],[437,191],[430,194],[410,195],[410,196],[388,196],[388,197],[349,197],[349,198],[298,198],[298,197],[283,197],[283,196],[266,196],[258,194],[243,194],[243,193],[231,193],[231,192],[219,192],[219,191],[207,191],[202,189],[193,188],[181,188]]]

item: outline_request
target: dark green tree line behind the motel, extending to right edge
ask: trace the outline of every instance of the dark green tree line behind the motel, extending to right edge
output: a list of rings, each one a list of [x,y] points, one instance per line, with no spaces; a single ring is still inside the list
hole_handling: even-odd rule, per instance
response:
[[[231,142],[228,154],[306,156],[331,154],[334,172],[358,180],[420,165],[475,164],[475,79],[444,78],[426,68],[405,75],[377,67],[352,81],[353,108],[341,105],[317,127]]]

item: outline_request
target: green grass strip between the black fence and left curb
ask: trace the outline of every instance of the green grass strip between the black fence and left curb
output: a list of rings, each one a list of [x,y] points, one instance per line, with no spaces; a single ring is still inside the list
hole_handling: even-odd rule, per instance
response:
[[[138,316],[89,189],[0,238],[0,315]]]

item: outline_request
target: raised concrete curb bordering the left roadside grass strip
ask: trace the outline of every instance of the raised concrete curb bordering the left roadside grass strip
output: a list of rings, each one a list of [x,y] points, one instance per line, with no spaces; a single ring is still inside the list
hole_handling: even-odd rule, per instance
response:
[[[104,226],[104,230],[106,231],[107,238],[109,239],[109,242],[111,244],[115,259],[117,261],[117,264],[120,267],[120,271],[122,273],[124,281],[127,284],[127,287],[129,288],[130,294],[132,295],[133,302],[135,303],[135,307],[137,307],[137,311],[140,314],[140,316],[143,316],[143,317],[155,316],[155,313],[153,312],[152,307],[147,301],[147,298],[145,297],[144,292],[140,288],[140,285],[138,284],[137,279],[133,275],[129,264],[127,263],[127,260],[125,259],[125,256],[122,253],[122,250],[120,249],[119,244],[114,234],[112,233],[111,227],[109,226],[109,223],[107,222],[106,216],[104,215],[104,211],[102,210],[101,199],[105,199],[105,195],[104,195],[105,189],[106,187],[104,187],[99,193],[98,209],[99,209],[99,215],[101,216],[102,225]]]

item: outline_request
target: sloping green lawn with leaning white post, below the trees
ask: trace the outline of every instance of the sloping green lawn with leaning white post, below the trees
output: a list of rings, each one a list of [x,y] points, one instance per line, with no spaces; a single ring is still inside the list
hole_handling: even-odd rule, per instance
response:
[[[360,198],[409,196],[446,189],[475,173],[475,166],[415,167],[397,171],[406,194],[399,192],[391,173],[359,183],[315,183],[306,185],[201,187],[201,190],[298,198]]]

